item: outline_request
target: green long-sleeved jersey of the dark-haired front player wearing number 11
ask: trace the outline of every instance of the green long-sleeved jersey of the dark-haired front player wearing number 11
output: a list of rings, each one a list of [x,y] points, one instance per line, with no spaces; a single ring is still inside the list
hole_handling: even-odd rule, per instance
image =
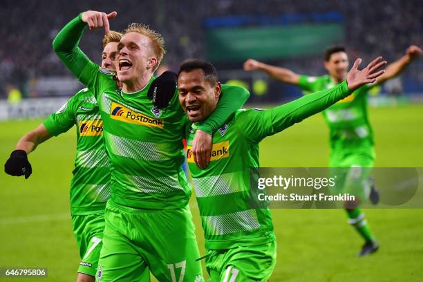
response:
[[[250,181],[259,168],[259,142],[346,97],[346,82],[274,109],[240,110],[213,135],[209,167],[199,169],[191,152],[196,124],[187,126],[187,162],[209,250],[274,240],[269,209],[252,202]],[[254,178],[253,178],[254,179]],[[253,191],[254,192],[254,191]],[[253,193],[254,194],[254,193]]]

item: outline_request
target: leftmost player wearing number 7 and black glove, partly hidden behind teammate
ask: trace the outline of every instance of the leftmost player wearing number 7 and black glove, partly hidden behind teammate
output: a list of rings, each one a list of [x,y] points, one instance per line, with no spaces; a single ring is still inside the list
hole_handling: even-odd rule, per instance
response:
[[[104,36],[102,68],[115,71],[115,57],[122,34]],[[42,142],[76,125],[77,153],[71,180],[71,217],[81,263],[78,282],[95,281],[102,248],[104,208],[110,198],[110,164],[103,140],[103,121],[95,94],[84,88],[37,129],[23,135],[5,164],[6,173],[25,176],[32,173],[27,155]]]

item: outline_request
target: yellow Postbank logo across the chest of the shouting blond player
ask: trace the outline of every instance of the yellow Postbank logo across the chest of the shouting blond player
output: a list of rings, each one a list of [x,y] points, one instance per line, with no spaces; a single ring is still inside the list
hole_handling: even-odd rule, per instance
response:
[[[147,117],[147,115],[132,111],[115,102],[111,104],[110,117],[113,118],[113,120],[120,120],[121,122],[128,122],[131,124],[158,127],[159,129],[164,127],[163,120]]]

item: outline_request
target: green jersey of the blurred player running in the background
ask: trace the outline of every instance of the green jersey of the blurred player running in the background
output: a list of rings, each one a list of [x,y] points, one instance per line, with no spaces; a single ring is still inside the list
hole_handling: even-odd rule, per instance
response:
[[[299,87],[305,94],[334,86],[335,83],[329,75],[321,77],[301,75],[299,79]],[[367,113],[367,93],[370,88],[369,84],[361,86],[352,95],[323,111],[330,130],[332,149],[357,151],[373,147],[373,130]]]

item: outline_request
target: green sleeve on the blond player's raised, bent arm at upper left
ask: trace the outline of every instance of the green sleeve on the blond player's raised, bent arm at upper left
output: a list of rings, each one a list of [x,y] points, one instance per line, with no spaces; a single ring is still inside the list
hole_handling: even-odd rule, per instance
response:
[[[98,95],[104,88],[114,87],[115,82],[113,73],[91,62],[78,47],[85,27],[86,23],[82,21],[81,13],[59,31],[53,40],[53,49],[73,75]]]

